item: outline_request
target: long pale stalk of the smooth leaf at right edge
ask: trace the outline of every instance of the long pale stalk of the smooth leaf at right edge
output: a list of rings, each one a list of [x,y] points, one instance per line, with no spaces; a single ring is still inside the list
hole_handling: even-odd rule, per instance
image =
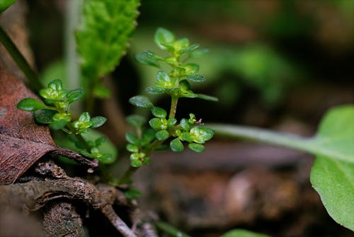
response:
[[[277,133],[272,130],[253,128],[249,126],[236,126],[230,124],[207,124],[209,128],[215,129],[216,135],[229,138],[242,138],[255,142],[268,143],[280,147],[287,147],[295,150],[309,152],[312,150],[310,140],[312,138],[301,138],[296,135]]]

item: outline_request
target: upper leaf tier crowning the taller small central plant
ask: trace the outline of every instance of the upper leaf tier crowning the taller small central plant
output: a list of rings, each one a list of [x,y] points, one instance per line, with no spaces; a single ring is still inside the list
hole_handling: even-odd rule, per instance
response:
[[[155,84],[147,88],[150,94],[166,93],[173,97],[188,97],[217,101],[217,98],[196,94],[190,90],[190,82],[202,83],[204,77],[198,73],[199,65],[188,63],[189,59],[203,56],[207,49],[199,49],[198,44],[191,44],[189,39],[176,39],[169,30],[158,28],[154,35],[156,45],[165,51],[167,56],[160,56],[154,51],[143,51],[135,58],[139,63],[154,66],[161,70],[156,74]],[[161,68],[161,63],[165,63],[171,68],[166,73]]]

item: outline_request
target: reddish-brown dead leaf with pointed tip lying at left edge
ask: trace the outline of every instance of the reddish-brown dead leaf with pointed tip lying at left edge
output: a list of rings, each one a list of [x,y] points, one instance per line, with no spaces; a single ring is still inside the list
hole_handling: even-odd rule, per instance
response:
[[[48,126],[35,123],[33,113],[17,109],[16,104],[26,97],[38,99],[23,82],[0,68],[0,185],[16,181],[48,152],[98,166],[97,160],[57,147]]]

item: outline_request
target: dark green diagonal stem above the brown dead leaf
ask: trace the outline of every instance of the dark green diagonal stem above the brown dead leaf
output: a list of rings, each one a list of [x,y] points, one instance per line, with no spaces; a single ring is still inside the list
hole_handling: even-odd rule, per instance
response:
[[[18,50],[16,45],[13,43],[12,39],[8,37],[3,28],[0,27],[0,42],[4,45],[5,49],[13,58],[13,61],[16,62],[17,66],[23,71],[25,76],[28,78],[30,82],[30,86],[33,88],[35,92],[38,92],[42,88],[42,83],[38,78],[37,73],[33,71],[30,67],[28,61],[25,60],[25,57]]]

